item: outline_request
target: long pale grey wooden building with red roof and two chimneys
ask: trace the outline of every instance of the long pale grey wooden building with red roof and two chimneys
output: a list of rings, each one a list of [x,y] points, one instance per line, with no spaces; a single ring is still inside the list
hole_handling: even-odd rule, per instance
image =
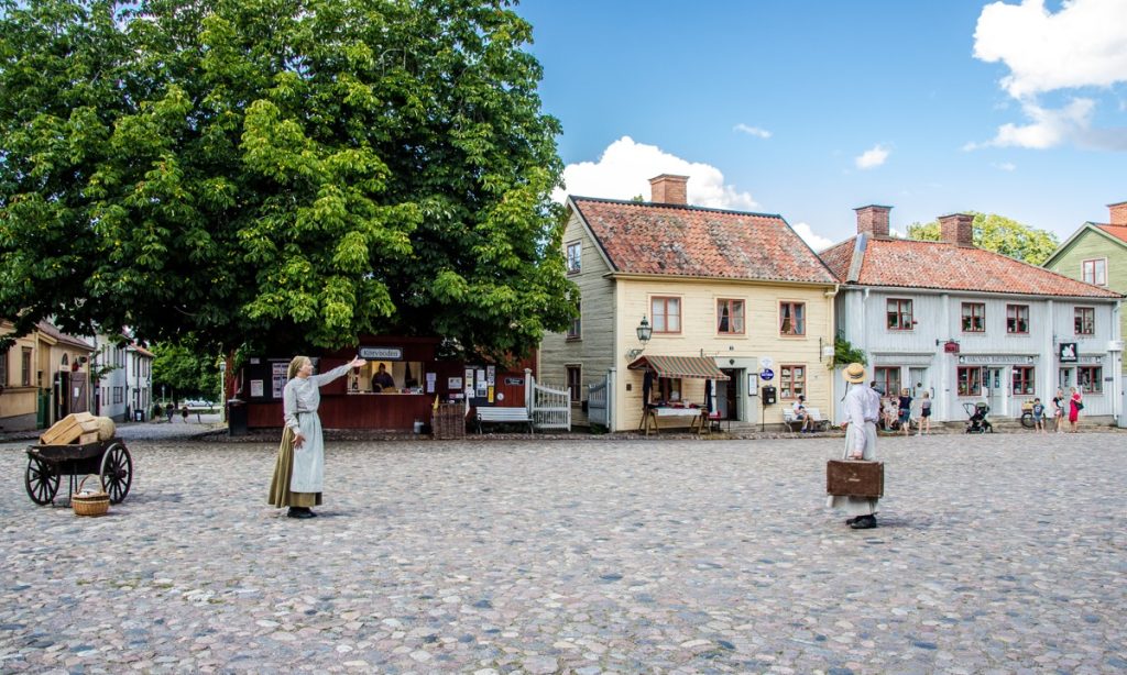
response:
[[[1083,392],[1086,417],[1120,414],[1119,294],[975,248],[965,214],[940,218],[939,242],[890,237],[890,208],[857,209],[858,235],[822,254],[842,282],[837,330],[879,387],[929,393],[940,422],[978,402],[1020,417],[1058,387]]]

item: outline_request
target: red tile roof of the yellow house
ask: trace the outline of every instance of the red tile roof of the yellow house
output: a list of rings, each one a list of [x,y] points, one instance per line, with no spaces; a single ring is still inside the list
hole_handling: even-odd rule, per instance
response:
[[[571,197],[615,271],[834,284],[781,216]]]

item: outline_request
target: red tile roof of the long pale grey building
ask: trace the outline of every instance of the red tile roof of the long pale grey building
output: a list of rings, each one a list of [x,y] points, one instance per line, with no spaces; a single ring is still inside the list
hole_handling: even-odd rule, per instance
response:
[[[938,290],[1012,292],[1066,297],[1117,298],[1119,294],[1070,279],[983,249],[946,242],[866,237],[861,269],[850,279],[858,237],[848,238],[822,258],[842,282]]]

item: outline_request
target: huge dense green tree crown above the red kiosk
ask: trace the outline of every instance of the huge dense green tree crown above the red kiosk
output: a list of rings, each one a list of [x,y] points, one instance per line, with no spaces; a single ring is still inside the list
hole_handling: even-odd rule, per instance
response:
[[[571,313],[505,0],[0,0],[0,316],[215,353]]]

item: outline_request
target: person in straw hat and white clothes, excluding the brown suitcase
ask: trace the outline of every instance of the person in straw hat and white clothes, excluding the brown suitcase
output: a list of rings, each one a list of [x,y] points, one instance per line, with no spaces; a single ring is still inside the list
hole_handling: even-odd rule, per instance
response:
[[[880,394],[864,384],[864,366],[850,363],[845,381],[851,386],[845,394],[845,453],[843,459],[877,459],[877,420],[880,417]],[[871,497],[833,496],[826,500],[831,508],[844,508],[850,515],[845,523],[854,530],[877,526],[877,502]]]

